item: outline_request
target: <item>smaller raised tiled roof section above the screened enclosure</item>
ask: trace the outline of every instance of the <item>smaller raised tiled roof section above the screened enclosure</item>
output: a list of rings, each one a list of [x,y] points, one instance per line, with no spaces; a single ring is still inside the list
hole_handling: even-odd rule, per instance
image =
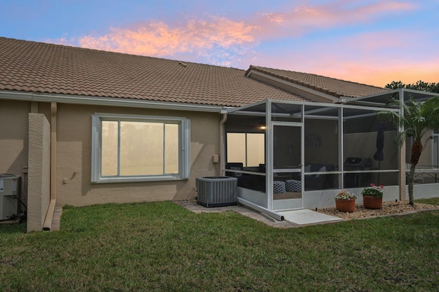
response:
[[[294,72],[287,70],[279,70],[272,68],[265,68],[259,66],[250,66],[247,72],[251,70],[276,77],[291,83],[296,83],[298,85],[311,88],[326,94],[330,94],[335,97],[346,96],[346,97],[358,97],[367,96],[371,94],[379,94],[387,92],[386,88],[379,88],[372,85],[366,85],[361,83],[355,83],[351,81],[344,81],[340,79],[334,79],[330,77],[324,77],[320,75]]]

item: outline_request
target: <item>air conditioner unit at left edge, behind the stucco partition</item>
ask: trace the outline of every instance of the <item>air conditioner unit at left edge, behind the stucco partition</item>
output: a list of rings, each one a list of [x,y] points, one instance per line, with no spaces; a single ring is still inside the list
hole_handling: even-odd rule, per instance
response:
[[[17,215],[17,198],[20,189],[21,176],[0,174],[0,220]]]

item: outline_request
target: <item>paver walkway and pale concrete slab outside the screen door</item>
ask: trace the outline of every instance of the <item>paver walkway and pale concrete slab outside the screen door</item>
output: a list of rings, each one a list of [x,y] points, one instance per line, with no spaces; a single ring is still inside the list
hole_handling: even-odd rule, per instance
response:
[[[243,205],[206,208],[206,207],[202,207],[199,204],[195,204],[194,202],[189,202],[189,201],[174,201],[174,202],[188,209],[189,211],[192,211],[193,213],[203,213],[203,212],[218,213],[224,211],[235,211],[236,213],[239,213],[246,217],[250,217],[254,220],[263,222],[268,226],[272,226],[276,228],[302,227],[302,226],[308,226],[314,224],[339,222],[342,220],[342,218],[340,217],[334,217],[334,216],[318,213],[316,211],[296,210],[296,211],[278,212],[281,213],[285,218],[284,221],[278,221],[268,215],[265,215],[264,213],[255,211]]]

